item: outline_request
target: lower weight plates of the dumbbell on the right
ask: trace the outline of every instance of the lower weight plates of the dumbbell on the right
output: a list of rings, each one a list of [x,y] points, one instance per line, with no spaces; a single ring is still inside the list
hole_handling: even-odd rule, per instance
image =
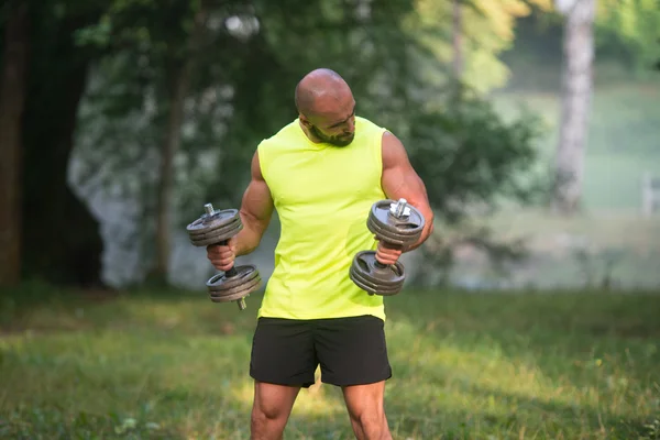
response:
[[[404,265],[380,267],[376,265],[374,251],[362,251],[355,254],[349,276],[359,287],[376,295],[395,295],[400,292],[406,278]]]

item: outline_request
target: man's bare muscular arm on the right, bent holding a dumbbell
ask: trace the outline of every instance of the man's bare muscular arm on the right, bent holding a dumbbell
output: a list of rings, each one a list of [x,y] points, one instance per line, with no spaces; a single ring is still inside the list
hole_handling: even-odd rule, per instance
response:
[[[429,205],[427,190],[417,175],[403,143],[394,134],[383,134],[383,176],[381,185],[387,198],[398,200],[404,198],[409,205],[421,212],[426,224],[419,241],[405,249],[413,251],[421,245],[433,231],[433,211]]]

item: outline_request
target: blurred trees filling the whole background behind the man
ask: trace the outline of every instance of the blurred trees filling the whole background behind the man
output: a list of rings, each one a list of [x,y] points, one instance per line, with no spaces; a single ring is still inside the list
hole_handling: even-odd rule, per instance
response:
[[[657,3],[606,3],[596,51],[646,74],[660,59]],[[170,284],[185,224],[207,201],[240,204],[256,144],[296,118],[295,85],[321,66],[404,140],[460,243],[519,257],[471,219],[549,201],[540,120],[504,118],[490,99],[512,78],[521,20],[564,19],[550,0],[4,2],[0,284],[107,284],[110,244],[125,249],[113,284]],[[419,265],[433,279],[458,243],[439,231]]]

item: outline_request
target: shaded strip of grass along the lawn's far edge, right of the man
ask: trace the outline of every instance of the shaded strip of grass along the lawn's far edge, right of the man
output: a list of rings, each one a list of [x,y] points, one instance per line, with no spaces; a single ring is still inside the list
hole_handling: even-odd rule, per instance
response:
[[[389,322],[436,341],[496,348],[551,365],[616,354],[619,362],[660,362],[660,295],[413,293],[388,298]],[[578,362],[575,362],[578,361]],[[660,371],[657,372],[660,380]]]

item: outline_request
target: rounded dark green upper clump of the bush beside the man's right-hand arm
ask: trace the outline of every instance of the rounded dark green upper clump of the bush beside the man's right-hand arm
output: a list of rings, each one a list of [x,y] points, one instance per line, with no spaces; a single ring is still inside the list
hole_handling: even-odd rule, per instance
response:
[[[505,122],[488,101],[450,94],[441,109],[413,119],[410,161],[433,207],[455,223],[475,205],[493,206],[498,196],[527,204],[540,195],[540,182],[529,178],[540,127],[532,114]]]

